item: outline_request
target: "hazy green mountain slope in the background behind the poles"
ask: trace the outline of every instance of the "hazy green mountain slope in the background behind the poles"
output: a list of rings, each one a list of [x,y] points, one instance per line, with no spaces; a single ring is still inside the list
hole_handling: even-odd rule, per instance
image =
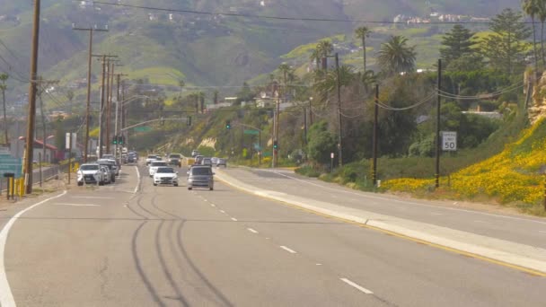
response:
[[[104,0],[105,2],[110,2]],[[519,0],[119,0],[112,3],[212,13],[279,17],[392,21],[397,14],[425,17],[433,12],[492,16]],[[0,0],[0,55],[28,75],[31,43],[31,1]],[[118,54],[129,77],[153,82],[236,85],[273,70],[290,50],[323,37],[350,34],[358,24],[304,22],[223,15],[177,13],[106,5],[92,1],[42,0],[40,73],[62,83],[81,79],[86,71],[87,35],[73,25],[108,25],[95,37],[96,53]],[[370,24],[374,26],[374,24]],[[0,63],[2,70],[7,70]],[[97,63],[94,72],[100,69]],[[153,73],[153,74],[152,74]],[[168,75],[171,75],[170,77]]]

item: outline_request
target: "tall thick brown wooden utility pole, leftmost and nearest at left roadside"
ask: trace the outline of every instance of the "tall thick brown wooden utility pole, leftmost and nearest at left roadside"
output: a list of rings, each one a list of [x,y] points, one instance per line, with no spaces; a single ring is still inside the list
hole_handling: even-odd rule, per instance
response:
[[[32,27],[31,84],[29,86],[29,115],[26,151],[24,155],[24,185],[26,194],[32,193],[32,149],[34,146],[34,119],[36,118],[36,77],[38,72],[38,47],[40,43],[40,0],[34,0]]]

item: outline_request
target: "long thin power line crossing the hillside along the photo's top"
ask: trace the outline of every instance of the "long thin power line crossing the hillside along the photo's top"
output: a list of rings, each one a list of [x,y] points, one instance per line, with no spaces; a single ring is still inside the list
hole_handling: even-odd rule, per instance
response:
[[[75,1],[75,0],[73,0]],[[206,11],[196,11],[196,10],[181,10],[165,7],[156,7],[156,6],[145,6],[145,5],[136,5],[136,4],[119,4],[119,3],[109,3],[102,1],[93,1],[93,4],[104,4],[112,5],[119,7],[128,7],[141,10],[149,11],[160,11],[160,12],[172,12],[172,13],[195,13],[200,15],[211,15],[211,16],[231,16],[231,17],[245,17],[245,18],[258,18],[258,19],[270,19],[270,20],[280,20],[280,21],[297,21],[297,22],[364,22],[364,23],[378,23],[378,24],[408,24],[408,22],[379,22],[379,21],[365,21],[358,19],[335,19],[335,18],[310,18],[310,17],[283,17],[283,16],[271,16],[271,15],[260,15],[260,14],[246,14],[246,13],[214,13]],[[427,22],[425,24],[489,24],[490,22]],[[533,23],[533,22],[518,22],[518,23]],[[535,22],[539,23],[539,22]]]

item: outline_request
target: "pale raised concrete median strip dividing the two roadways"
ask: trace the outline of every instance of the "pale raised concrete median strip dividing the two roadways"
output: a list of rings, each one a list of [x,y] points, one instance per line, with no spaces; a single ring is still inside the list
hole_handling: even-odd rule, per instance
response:
[[[503,264],[527,268],[532,271],[530,273],[542,273],[540,274],[541,276],[546,276],[546,250],[541,248],[494,239],[471,232],[462,232],[433,224],[415,222],[390,215],[379,215],[369,211],[304,197],[290,196],[278,191],[259,189],[233,178],[226,174],[225,171],[217,170],[216,178],[224,181],[233,188],[242,189],[259,197],[277,200],[322,215],[330,215],[357,224],[364,224],[419,241],[427,241],[441,247],[495,260]]]

